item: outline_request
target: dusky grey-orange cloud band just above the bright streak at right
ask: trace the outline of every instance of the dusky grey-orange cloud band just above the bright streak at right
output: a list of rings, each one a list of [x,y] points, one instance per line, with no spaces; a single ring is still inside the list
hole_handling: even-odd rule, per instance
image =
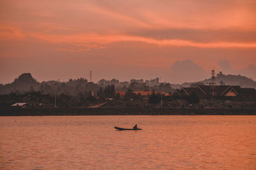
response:
[[[129,33],[129,32],[128,32]],[[154,39],[186,39],[200,43],[209,42],[255,42],[256,31],[243,31],[239,29],[144,29],[143,31],[130,32],[133,36],[143,36]]]

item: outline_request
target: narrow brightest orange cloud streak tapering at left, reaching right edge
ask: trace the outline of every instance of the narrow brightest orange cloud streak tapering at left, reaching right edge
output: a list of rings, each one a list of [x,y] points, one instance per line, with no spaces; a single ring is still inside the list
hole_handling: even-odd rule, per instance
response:
[[[239,42],[210,42],[198,43],[188,41],[186,39],[154,39],[141,36],[129,36],[122,34],[71,34],[71,35],[53,35],[30,33],[29,36],[42,39],[50,43],[99,43],[108,44],[119,41],[140,41],[148,44],[159,46],[193,46],[197,48],[256,48],[255,43],[239,43]]]

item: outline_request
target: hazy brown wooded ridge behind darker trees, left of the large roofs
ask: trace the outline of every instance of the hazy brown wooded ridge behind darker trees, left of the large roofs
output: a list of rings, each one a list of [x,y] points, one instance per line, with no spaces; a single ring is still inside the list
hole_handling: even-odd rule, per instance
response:
[[[97,94],[97,90],[103,91],[105,87],[114,85],[116,91],[126,92],[128,89],[134,91],[143,90],[156,90],[158,92],[171,92],[173,90],[170,83],[160,83],[159,78],[152,80],[135,80],[130,81],[119,81],[116,79],[112,80],[99,80],[97,83],[88,82],[85,78],[70,79],[67,82],[56,81],[42,81],[41,83],[36,81],[30,73],[24,73],[16,78],[12,83],[6,85],[0,84],[0,95],[10,94],[15,92],[17,94],[22,92],[40,91],[44,94],[53,95],[55,92],[58,94],[65,94],[68,96],[77,96],[79,93],[84,93],[91,90]],[[101,93],[101,92],[99,92]],[[101,96],[102,94],[100,94]],[[104,94],[105,95],[105,94]],[[113,94],[106,94],[106,97],[113,96]]]

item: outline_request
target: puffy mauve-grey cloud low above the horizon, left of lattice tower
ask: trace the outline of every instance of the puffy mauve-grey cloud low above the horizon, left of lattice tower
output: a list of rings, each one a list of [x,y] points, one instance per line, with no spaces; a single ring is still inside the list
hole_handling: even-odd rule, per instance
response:
[[[209,77],[209,73],[193,60],[177,60],[171,67],[171,74],[174,83],[200,81]]]

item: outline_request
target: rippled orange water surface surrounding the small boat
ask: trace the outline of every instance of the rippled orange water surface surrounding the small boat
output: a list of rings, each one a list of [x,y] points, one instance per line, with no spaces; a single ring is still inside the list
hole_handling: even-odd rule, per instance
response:
[[[0,117],[0,169],[256,169],[256,117]]]

